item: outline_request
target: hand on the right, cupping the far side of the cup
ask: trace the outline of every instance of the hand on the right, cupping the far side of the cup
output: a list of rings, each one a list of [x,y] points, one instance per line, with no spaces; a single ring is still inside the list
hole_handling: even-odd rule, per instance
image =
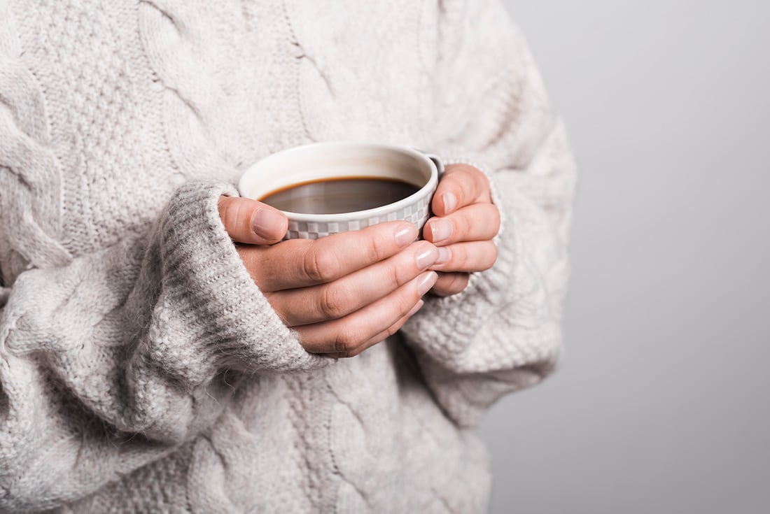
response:
[[[456,295],[468,285],[470,272],[490,269],[497,259],[492,239],[500,229],[500,211],[492,203],[489,181],[470,165],[448,165],[431,203],[434,217],[423,229],[423,239],[439,249],[431,266],[439,278],[431,290]]]

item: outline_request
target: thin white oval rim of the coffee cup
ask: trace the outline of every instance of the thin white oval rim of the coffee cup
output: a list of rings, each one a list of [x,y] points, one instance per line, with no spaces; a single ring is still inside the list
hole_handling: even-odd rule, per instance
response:
[[[249,168],[246,169],[245,172],[243,172],[243,175],[241,175],[241,178],[238,181],[239,194],[244,195],[244,191],[246,190],[246,182],[249,179],[249,175],[251,175],[249,171],[256,168],[256,166],[263,165],[266,161],[268,161],[269,159],[276,158],[276,156],[278,155],[284,156],[288,153],[307,152],[311,149],[315,149],[316,147],[320,147],[320,146],[325,146],[325,147],[368,146],[373,149],[391,150],[394,152],[400,152],[403,154],[411,155],[419,159],[420,161],[427,162],[427,164],[430,166],[430,179],[428,179],[425,185],[420,187],[420,189],[418,189],[417,192],[412,193],[406,198],[400,199],[397,202],[389,203],[387,205],[380,205],[380,207],[375,207],[373,209],[366,209],[363,211],[336,212],[334,214],[311,214],[307,212],[291,212],[291,211],[281,210],[281,212],[283,212],[283,214],[286,215],[286,217],[289,218],[290,221],[310,222],[310,223],[334,223],[334,222],[347,222],[347,221],[350,221],[351,219],[375,218],[378,216],[385,215],[392,211],[393,212],[399,211],[400,209],[403,209],[407,205],[411,205],[418,202],[424,196],[432,195],[434,192],[434,189],[436,189],[436,186],[438,184],[439,170],[436,163],[433,161],[433,159],[430,159],[428,155],[424,154],[423,152],[420,152],[419,150],[412,149],[408,146],[392,145],[389,143],[380,143],[380,142],[329,141],[329,142],[314,142],[314,143],[309,143],[307,145],[294,146],[292,148],[281,150],[280,152],[276,152],[271,155],[267,155],[263,159],[259,159],[259,161],[255,162],[253,165],[250,165]]]

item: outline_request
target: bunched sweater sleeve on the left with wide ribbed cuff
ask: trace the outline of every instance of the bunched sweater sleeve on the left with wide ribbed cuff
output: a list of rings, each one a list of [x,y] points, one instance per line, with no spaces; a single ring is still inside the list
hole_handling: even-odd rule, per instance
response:
[[[222,194],[236,192],[182,185],[146,234],[0,290],[0,512],[78,499],[170,452],[244,372],[329,362],[249,277]]]

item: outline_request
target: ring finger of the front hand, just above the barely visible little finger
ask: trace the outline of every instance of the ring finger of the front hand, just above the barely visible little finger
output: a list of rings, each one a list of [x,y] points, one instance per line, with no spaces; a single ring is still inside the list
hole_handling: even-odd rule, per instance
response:
[[[438,278],[424,272],[383,299],[332,321],[302,325],[294,330],[308,352],[356,355],[382,332],[406,316]]]

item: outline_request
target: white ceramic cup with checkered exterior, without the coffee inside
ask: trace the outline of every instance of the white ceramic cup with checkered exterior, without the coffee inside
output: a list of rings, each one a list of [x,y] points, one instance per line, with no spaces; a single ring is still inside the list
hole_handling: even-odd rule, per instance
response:
[[[267,156],[251,165],[238,184],[244,198],[259,200],[292,185],[341,177],[397,179],[420,189],[376,209],[339,214],[286,212],[285,239],[318,239],[323,235],[366,228],[380,222],[407,220],[422,229],[430,217],[430,200],[444,166],[435,155],[404,146],[365,142],[322,142]]]

